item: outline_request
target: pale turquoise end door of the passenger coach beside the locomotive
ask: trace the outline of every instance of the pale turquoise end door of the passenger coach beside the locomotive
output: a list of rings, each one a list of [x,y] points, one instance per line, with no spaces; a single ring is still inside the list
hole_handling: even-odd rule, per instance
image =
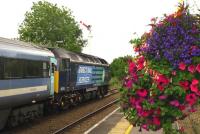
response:
[[[57,83],[57,80],[54,78],[54,75],[57,71],[57,60],[54,57],[50,58],[50,95],[54,95],[54,86]]]

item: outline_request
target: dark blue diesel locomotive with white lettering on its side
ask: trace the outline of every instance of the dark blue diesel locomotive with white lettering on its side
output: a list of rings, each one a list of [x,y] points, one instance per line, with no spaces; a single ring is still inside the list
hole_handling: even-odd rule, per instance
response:
[[[107,93],[109,65],[105,60],[60,48],[52,49],[52,52],[58,61],[58,85],[54,97],[60,107]]]

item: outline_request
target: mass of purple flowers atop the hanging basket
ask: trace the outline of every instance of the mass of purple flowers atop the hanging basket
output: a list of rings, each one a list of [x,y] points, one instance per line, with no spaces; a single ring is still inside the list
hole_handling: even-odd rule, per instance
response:
[[[195,20],[185,14],[185,17],[169,17],[165,21],[169,25],[157,24],[152,28],[152,34],[146,40],[147,47],[141,50],[142,53],[158,61],[164,58],[173,68],[177,68],[180,62],[191,64],[194,56],[200,56],[200,48],[190,49],[194,44],[198,46],[199,42],[199,37],[194,34],[199,34],[193,26]]]

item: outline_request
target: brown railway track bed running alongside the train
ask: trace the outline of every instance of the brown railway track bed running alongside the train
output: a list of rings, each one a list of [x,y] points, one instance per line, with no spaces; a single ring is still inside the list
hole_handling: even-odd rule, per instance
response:
[[[88,103],[87,102],[82,103],[80,106],[72,107],[71,109],[62,111],[59,114],[55,113],[53,115],[43,117],[39,120],[35,120],[27,124],[22,124],[21,126],[18,126],[16,128],[8,129],[8,131],[5,130],[4,132],[5,134],[27,134],[27,133],[52,134],[64,128],[63,126],[65,127],[68,126],[63,130],[65,131],[68,128],[71,128],[72,126],[74,126],[75,124],[78,124],[78,122],[81,122],[81,120],[84,121],[84,119],[87,119],[92,115],[95,115],[95,113],[98,113],[98,111],[100,113],[101,109],[102,110],[106,109],[106,107],[111,106],[112,103],[115,104],[117,102],[116,98],[118,98],[118,93],[119,92],[117,89],[109,90],[108,94],[105,95],[103,99],[91,100],[91,101],[88,101]],[[94,111],[94,112],[89,113],[90,111]]]

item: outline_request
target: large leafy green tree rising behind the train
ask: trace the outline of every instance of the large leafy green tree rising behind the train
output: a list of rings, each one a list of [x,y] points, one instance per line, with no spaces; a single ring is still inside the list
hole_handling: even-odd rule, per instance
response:
[[[86,45],[70,9],[46,1],[33,3],[19,27],[20,40],[81,52]]]

